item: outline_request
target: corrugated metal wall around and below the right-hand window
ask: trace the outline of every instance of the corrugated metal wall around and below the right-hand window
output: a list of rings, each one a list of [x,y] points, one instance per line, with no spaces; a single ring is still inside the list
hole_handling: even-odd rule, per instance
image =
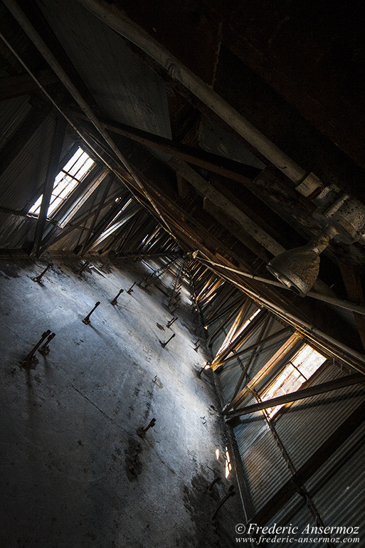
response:
[[[226,303],[225,303],[226,305]],[[252,308],[250,312],[252,313]],[[250,314],[248,311],[248,315]],[[238,307],[236,309],[236,315]],[[213,355],[223,342],[229,328],[236,317],[226,322],[221,333],[216,337],[212,349]],[[214,332],[219,321],[210,325],[208,334]],[[262,324],[259,324],[245,342],[237,349],[254,344],[258,339]],[[283,325],[275,318],[270,318],[263,333],[263,337],[282,330]],[[289,339],[290,332],[281,334],[277,339],[263,344],[255,355],[248,369],[243,386],[249,379],[273,357],[282,344]],[[302,344],[299,342],[295,349]],[[291,351],[290,355],[294,352]],[[248,361],[248,354],[233,359],[218,372],[223,397],[226,402],[231,401],[236,383]],[[290,357],[290,356],[288,356]],[[264,386],[270,383],[273,375],[287,362],[282,360],[273,372],[267,376],[265,383],[258,387],[259,393]],[[322,384],[341,376],[353,373],[349,369],[342,370],[339,363],[327,360],[319,372],[314,376],[312,385]],[[248,488],[247,507],[250,508],[252,518],[266,502],[274,497],[277,491],[292,478],[293,469],[298,470],[314,452],[334,433],[346,418],[365,399],[364,386],[357,384],[343,389],[312,396],[310,398],[287,404],[277,416],[272,419],[273,430],[270,429],[263,411],[257,411],[241,416],[233,426],[240,458],[243,463],[245,485]],[[255,404],[257,399],[249,396],[245,405]],[[268,521],[268,525],[276,522],[280,525],[298,525],[302,531],[310,524],[316,525],[314,517],[324,525],[358,526],[364,527],[364,512],[360,501],[365,490],[365,426],[358,430],[332,455],[325,465],[313,475],[305,484],[313,505],[310,512],[305,500],[295,495],[287,502],[280,512]],[[290,462],[290,465],[288,464]],[[290,468],[290,466],[292,468]],[[311,536],[311,535],[307,535]],[[319,535],[320,536],[320,535]],[[315,547],[316,542],[307,546]]]

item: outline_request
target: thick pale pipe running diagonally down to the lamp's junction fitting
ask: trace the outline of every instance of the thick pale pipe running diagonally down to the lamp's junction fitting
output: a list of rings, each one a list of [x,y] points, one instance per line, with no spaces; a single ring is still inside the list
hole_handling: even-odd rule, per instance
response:
[[[103,23],[112,28],[115,32],[127,38],[138,46],[142,51],[152,57],[161,65],[175,80],[193,93],[204,105],[224,120],[238,135],[255,147],[258,152],[275,165],[281,172],[285,173],[295,183],[305,179],[306,172],[290,157],[280,150],[263,133],[254,127],[248,120],[240,115],[231,105],[218,95],[210,86],[196,76],[189,68],[186,68],[176,57],[174,57],[162,44],[157,42],[146,31],[131,21],[125,13],[100,0],[77,0],[79,4],[92,12]]]

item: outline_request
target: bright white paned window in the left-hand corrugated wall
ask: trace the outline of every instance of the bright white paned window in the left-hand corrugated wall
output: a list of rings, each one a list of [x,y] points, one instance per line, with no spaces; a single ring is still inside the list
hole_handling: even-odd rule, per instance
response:
[[[75,154],[73,154],[73,157],[68,160],[63,169],[55,176],[47,217],[51,217],[58,207],[63,204],[94,164],[95,162],[88,154],[79,147]],[[28,213],[36,216],[39,215],[42,198],[43,194],[41,194],[36,203],[31,206]]]

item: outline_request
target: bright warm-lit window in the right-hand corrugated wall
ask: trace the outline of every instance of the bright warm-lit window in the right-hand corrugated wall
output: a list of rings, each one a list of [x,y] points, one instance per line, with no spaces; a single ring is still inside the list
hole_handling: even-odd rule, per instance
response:
[[[317,371],[325,360],[326,358],[322,356],[322,354],[319,354],[317,350],[310,347],[309,344],[302,344],[300,349],[290,359],[290,362],[286,364],[282,372],[280,372],[270,386],[263,391],[263,394],[260,394],[260,398],[265,401],[278,396],[284,396],[285,394],[300,389],[300,386],[310,379],[312,374]],[[269,418],[275,415],[282,405],[267,409],[266,411]]]

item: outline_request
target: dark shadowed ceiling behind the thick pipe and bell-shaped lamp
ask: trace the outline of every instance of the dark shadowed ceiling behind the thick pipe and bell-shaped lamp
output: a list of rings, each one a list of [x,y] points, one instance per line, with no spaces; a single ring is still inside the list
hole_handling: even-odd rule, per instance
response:
[[[359,3],[96,3],[113,17],[118,17],[118,9],[122,11],[123,17],[147,31],[306,174],[316,174],[320,184],[310,196],[297,192],[296,185],[265,154],[181,85],[174,74],[174,70],[179,71],[175,62],[174,68],[166,71],[135,43],[97,19],[81,1],[18,1],[129,162],[131,176],[8,11],[9,7],[14,11],[16,3],[6,0],[3,4],[1,33],[73,122],[73,127],[68,126],[64,152],[75,139],[80,141],[80,134],[88,140],[125,177],[128,191],[152,214],[150,224],[143,217],[143,209],[143,215],[139,214],[145,230],[151,231],[155,222],[167,228],[160,243],[167,245],[172,234],[184,252],[199,249],[218,263],[268,278],[265,265],[277,254],[275,249],[301,246],[323,228],[323,218],[313,216],[321,191],[332,185],[339,193],[347,192],[365,204],[365,47]],[[19,135],[18,141],[15,139],[16,128],[22,128],[24,141],[22,147],[17,145],[16,154],[9,154],[10,148],[14,151],[11,136],[0,149],[0,166],[4,168],[0,170],[1,211],[13,211],[13,216],[14,211],[26,214],[26,205],[41,189],[42,176],[38,173],[36,181],[30,172],[39,165],[35,149],[39,151],[40,142],[51,147],[54,120],[59,115],[24,65],[0,42],[2,122],[5,130],[12,128],[14,142],[19,141]],[[24,137],[24,127],[31,122],[29,112],[34,110],[37,120],[43,116],[38,126],[33,120],[38,141],[34,134],[31,139],[31,132],[28,139]],[[194,172],[187,174],[186,165]],[[16,166],[21,169],[14,176]],[[22,199],[6,201],[5,190],[10,189],[10,196],[18,195],[22,184]],[[202,190],[205,184],[208,191]],[[117,191],[118,184],[114,181],[113,185],[110,193]],[[100,191],[99,199],[101,195]],[[94,205],[88,202],[89,209]],[[238,210],[248,223],[233,213]],[[105,206],[105,218],[108,212]],[[6,240],[8,248],[26,248],[28,228],[21,230],[16,243]],[[63,240],[58,234],[63,251],[75,251],[76,240],[78,245],[82,243],[80,233],[76,239],[69,236]],[[120,238],[115,238],[107,251],[119,248]],[[334,242],[322,255],[322,285],[317,284],[317,290],[363,304],[364,267],[365,253],[359,243]],[[334,308],[310,297],[302,299],[254,281],[248,287],[352,347],[362,348],[363,316],[355,317],[355,327],[351,312],[336,308],[335,314]]]

